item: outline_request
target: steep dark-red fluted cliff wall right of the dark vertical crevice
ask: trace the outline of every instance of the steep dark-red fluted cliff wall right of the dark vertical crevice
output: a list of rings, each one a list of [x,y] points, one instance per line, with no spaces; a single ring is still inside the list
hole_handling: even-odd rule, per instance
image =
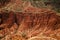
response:
[[[55,13],[17,13],[17,23],[20,24],[24,21],[24,24],[27,27],[54,27],[53,25],[57,24],[57,15]],[[23,24],[23,25],[24,25]]]

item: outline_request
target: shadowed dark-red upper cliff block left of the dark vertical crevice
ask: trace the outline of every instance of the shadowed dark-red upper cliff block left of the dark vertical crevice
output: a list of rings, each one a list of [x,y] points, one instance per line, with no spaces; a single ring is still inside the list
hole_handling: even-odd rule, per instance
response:
[[[10,14],[9,14],[10,13]],[[2,12],[1,13],[1,25],[2,24],[7,24],[7,25],[10,25],[12,23],[14,23],[14,13],[13,12]]]

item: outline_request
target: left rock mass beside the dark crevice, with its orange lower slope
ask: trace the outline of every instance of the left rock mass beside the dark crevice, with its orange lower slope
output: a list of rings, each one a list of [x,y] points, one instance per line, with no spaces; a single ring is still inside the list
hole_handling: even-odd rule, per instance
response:
[[[5,36],[8,33],[8,29],[14,24],[14,13],[13,12],[1,12],[0,13],[0,37]]]

